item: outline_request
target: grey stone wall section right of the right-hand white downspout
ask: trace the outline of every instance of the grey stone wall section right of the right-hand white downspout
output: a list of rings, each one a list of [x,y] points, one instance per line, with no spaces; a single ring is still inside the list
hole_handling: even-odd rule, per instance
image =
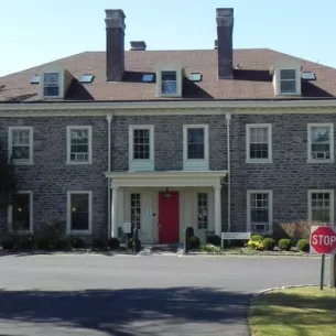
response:
[[[306,220],[307,191],[335,189],[335,163],[307,163],[307,124],[314,122],[335,124],[336,116],[271,112],[232,116],[230,175],[234,230],[247,230],[248,189],[273,191],[273,223]],[[272,163],[246,163],[247,123],[272,124]]]

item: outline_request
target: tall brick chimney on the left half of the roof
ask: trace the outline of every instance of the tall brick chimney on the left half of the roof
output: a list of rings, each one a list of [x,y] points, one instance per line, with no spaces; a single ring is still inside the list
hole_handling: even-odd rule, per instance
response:
[[[121,82],[124,72],[124,13],[106,11],[106,77],[108,82]]]

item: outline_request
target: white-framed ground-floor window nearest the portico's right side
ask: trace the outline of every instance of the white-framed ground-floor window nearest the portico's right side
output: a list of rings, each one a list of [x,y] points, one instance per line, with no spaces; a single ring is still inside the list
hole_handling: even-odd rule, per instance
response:
[[[252,232],[271,232],[273,228],[273,192],[248,191],[248,229]]]

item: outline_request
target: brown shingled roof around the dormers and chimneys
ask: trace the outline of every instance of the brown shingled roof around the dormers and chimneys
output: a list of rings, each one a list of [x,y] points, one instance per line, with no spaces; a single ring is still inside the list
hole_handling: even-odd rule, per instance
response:
[[[302,99],[332,98],[336,96],[336,69],[307,62],[268,48],[235,50],[235,79],[217,79],[217,51],[127,51],[126,75],[122,83],[106,82],[106,53],[85,52],[48,64],[0,77],[0,101],[39,101],[39,85],[30,84],[32,75],[42,67],[57,65],[79,79],[93,74],[91,84],[74,82],[65,100],[158,100],[155,83],[141,83],[142,73],[153,72],[155,64],[176,62],[184,66],[186,75],[203,74],[199,83],[184,82],[180,99],[293,99],[275,97],[270,68],[278,61],[299,59],[303,71],[312,71],[316,80],[303,80]],[[295,97],[297,98],[297,97]],[[174,98],[176,99],[176,98]]]

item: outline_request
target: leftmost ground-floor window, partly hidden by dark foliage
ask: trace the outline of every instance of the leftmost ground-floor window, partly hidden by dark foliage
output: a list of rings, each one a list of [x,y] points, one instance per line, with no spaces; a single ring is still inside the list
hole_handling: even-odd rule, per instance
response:
[[[33,232],[33,192],[18,192],[8,212],[8,224],[11,232]]]

